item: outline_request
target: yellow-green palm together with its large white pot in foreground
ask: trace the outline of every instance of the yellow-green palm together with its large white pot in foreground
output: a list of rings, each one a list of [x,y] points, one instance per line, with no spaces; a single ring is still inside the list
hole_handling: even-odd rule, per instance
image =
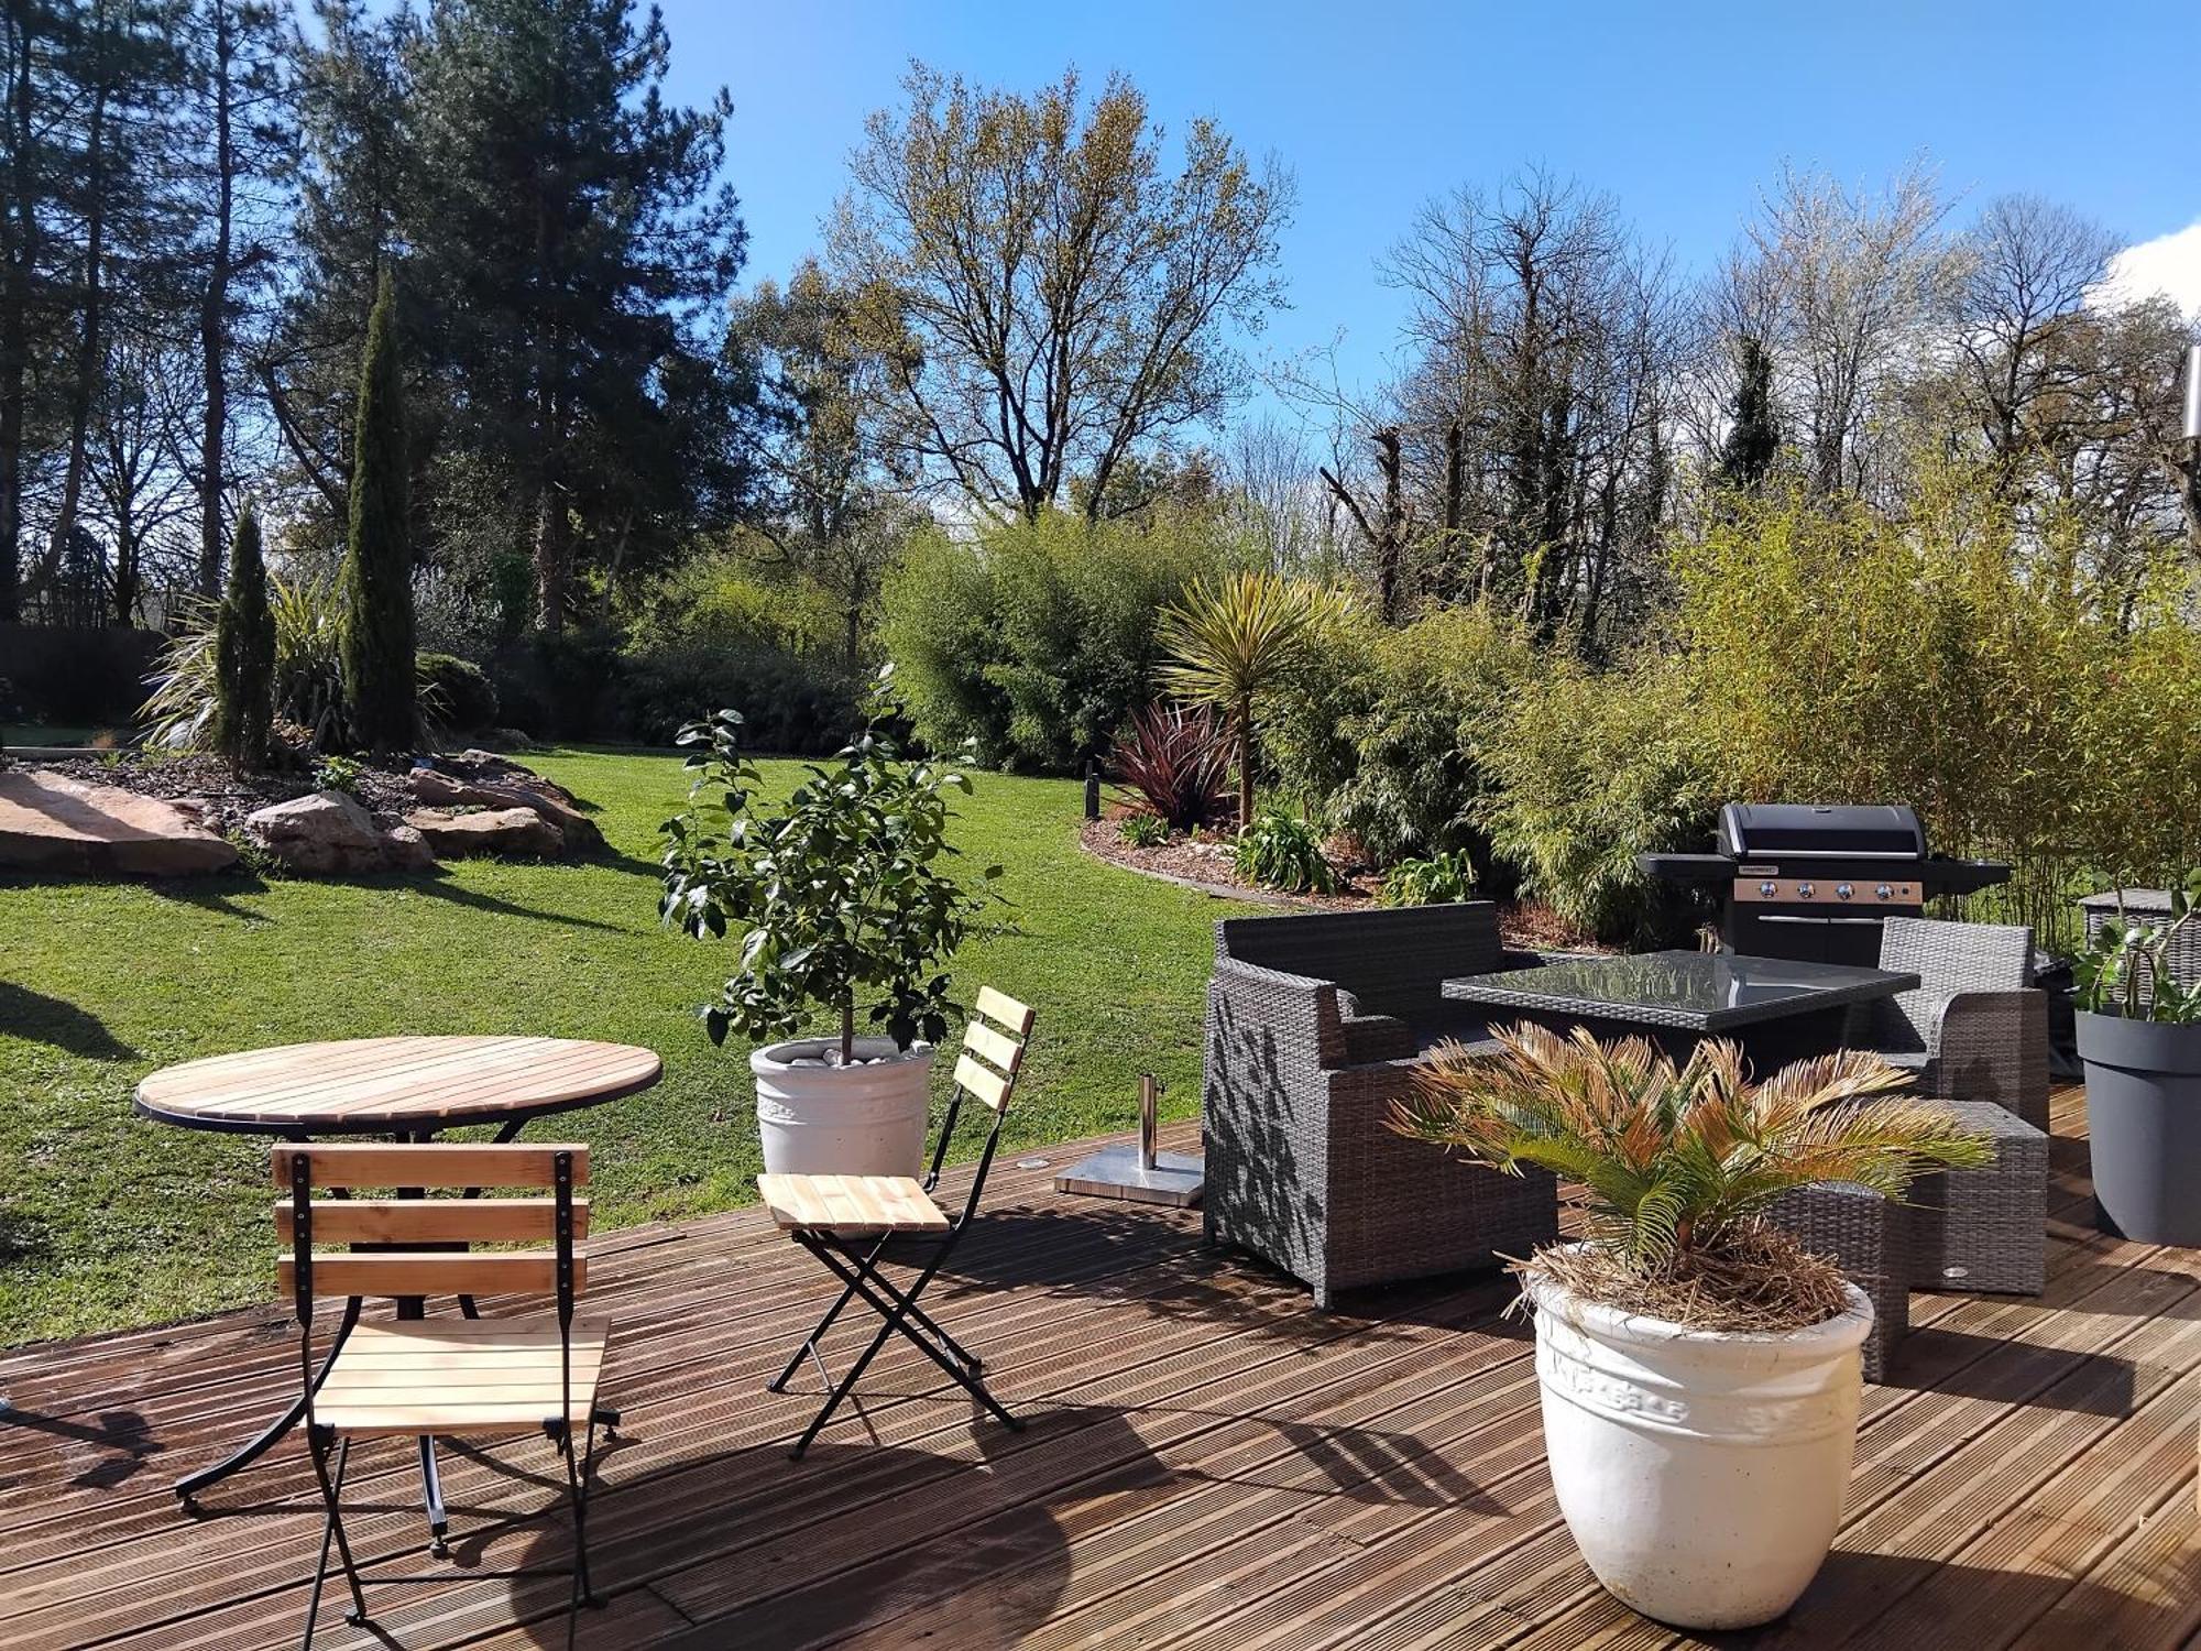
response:
[[[1437,1050],[1393,1123],[1589,1189],[1583,1239],[1514,1264],[1567,1528],[1644,1616],[1770,1622],[1842,1519],[1873,1305],[1761,1217],[1818,1180],[1897,1198],[1990,1147],[1939,1107],[1886,1098],[1910,1079],[1862,1050],[1752,1083],[1726,1041],[1679,1070],[1580,1028],[1516,1026],[1499,1043]]]

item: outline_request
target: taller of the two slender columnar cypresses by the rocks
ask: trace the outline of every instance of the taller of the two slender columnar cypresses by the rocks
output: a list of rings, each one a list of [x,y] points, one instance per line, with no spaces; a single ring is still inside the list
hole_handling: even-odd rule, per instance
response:
[[[352,733],[372,751],[412,751],[418,737],[405,376],[394,310],[390,273],[383,271],[359,365],[352,517],[337,619]]]

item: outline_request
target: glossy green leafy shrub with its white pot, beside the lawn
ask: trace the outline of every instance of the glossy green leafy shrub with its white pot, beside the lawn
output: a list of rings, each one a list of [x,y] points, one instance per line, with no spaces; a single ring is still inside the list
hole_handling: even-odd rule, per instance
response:
[[[924,1158],[933,1043],[949,1028],[949,960],[988,894],[949,872],[955,766],[905,757],[887,674],[869,726],[784,803],[759,795],[742,715],[693,722],[689,808],[665,823],[665,922],[742,933],[742,969],[702,1008],[713,1043],[748,1057],[775,1173],[913,1176]],[[997,878],[999,865],[986,867]],[[823,1013],[830,1037],[790,1037]],[[876,1028],[858,1037],[858,1017]]]

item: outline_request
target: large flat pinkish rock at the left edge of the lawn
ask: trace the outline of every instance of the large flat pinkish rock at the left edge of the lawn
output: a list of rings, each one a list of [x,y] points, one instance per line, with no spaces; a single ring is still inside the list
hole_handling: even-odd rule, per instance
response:
[[[236,863],[236,845],[200,826],[191,808],[44,768],[0,768],[0,865],[187,876]]]

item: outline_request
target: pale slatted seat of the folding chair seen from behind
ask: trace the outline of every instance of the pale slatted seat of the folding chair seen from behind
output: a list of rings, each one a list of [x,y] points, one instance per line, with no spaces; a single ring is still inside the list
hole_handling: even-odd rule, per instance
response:
[[[607,1316],[574,1316],[577,1433],[596,1409],[610,1338]],[[313,1411],[352,1437],[539,1429],[559,1411],[557,1316],[363,1323],[337,1352]]]

